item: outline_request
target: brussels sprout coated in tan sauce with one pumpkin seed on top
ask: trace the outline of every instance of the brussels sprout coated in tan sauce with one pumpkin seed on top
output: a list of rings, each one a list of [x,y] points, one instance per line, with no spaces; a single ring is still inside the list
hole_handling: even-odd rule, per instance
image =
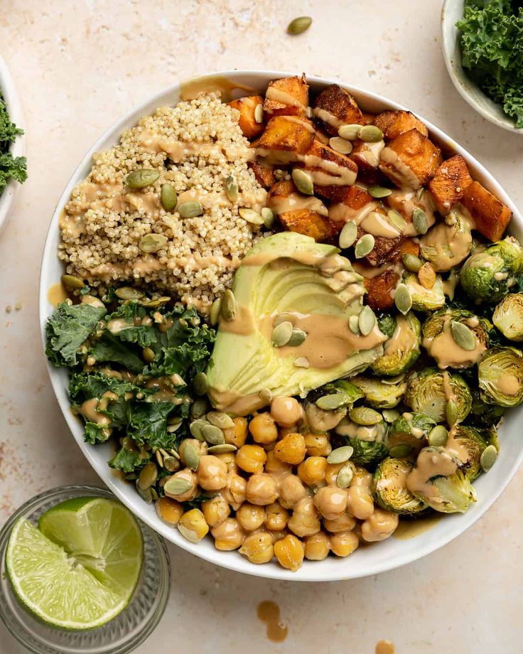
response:
[[[439,368],[469,368],[487,349],[491,328],[471,311],[441,309],[423,323],[422,343]]]

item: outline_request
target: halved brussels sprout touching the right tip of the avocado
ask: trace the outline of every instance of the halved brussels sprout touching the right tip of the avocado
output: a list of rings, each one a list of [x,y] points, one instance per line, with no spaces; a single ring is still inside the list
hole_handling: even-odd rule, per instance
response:
[[[374,375],[401,375],[414,363],[420,353],[421,323],[412,311],[406,316],[384,313],[378,318],[379,330],[389,340],[385,342],[383,355],[371,365]]]

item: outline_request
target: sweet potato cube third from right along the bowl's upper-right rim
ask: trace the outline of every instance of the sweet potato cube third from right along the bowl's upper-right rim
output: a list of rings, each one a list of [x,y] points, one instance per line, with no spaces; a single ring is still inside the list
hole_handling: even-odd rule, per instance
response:
[[[420,188],[441,164],[441,150],[417,129],[389,141],[379,157],[379,169],[397,186]]]

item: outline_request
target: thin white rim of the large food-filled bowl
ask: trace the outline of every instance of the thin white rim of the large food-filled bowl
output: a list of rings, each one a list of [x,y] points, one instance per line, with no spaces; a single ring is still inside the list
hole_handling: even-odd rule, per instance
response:
[[[50,221],[48,232],[45,237],[45,245],[43,250],[41,274],[40,274],[40,288],[39,288],[39,316],[41,322],[41,338],[43,341],[44,350],[45,350],[45,323],[48,319],[48,316],[50,316],[50,313],[52,313],[52,311],[54,310],[54,307],[50,306],[48,301],[48,289],[49,289],[49,285],[53,284],[53,281],[50,279],[50,277],[48,277],[47,274],[48,262],[50,262],[51,257],[53,257],[53,260],[55,260],[56,257],[56,252],[53,246],[53,232],[55,230],[58,230],[58,218],[60,216],[60,213],[63,210],[65,203],[68,201],[68,198],[70,198],[70,192],[72,190],[72,187],[75,186],[75,183],[78,183],[79,181],[81,181],[82,178],[84,178],[84,176],[80,176],[80,174],[82,168],[84,168],[85,165],[88,162],[90,162],[92,158],[92,154],[95,153],[97,150],[99,150],[99,147],[107,139],[109,138],[114,139],[115,136],[119,138],[119,134],[122,132],[122,129],[126,124],[129,123],[131,119],[133,119],[135,124],[139,119],[138,117],[144,115],[144,111],[146,111],[147,107],[150,107],[152,104],[154,104],[155,106],[159,106],[158,102],[160,102],[163,97],[178,93],[180,91],[180,87],[182,87],[182,85],[185,85],[187,82],[192,82],[193,80],[199,79],[200,77],[207,78],[207,80],[212,80],[212,78],[215,77],[218,78],[225,77],[227,80],[231,80],[231,82],[234,82],[235,79],[244,80],[245,77],[252,77],[252,78],[256,78],[256,83],[262,86],[262,85],[266,85],[266,83],[269,82],[269,80],[274,80],[279,77],[286,77],[295,74],[296,73],[288,73],[281,70],[235,69],[235,70],[217,71],[212,74],[207,73],[205,75],[198,75],[196,77],[191,77],[188,80],[182,80],[181,82],[178,82],[174,85],[171,85],[170,87],[167,87],[166,89],[156,93],[152,97],[149,97],[144,102],[138,104],[136,107],[131,109],[131,111],[127,112],[122,118],[117,120],[117,122],[112,124],[112,126],[109,127],[109,129],[107,129],[102,134],[102,136],[100,136],[99,139],[97,139],[97,141],[95,141],[95,144],[87,151],[87,153],[82,157],[80,163],[76,166],[75,170],[72,173],[72,176],[70,177],[70,180],[65,186],[63,193],[60,195],[60,199],[58,200],[58,203],[55,207],[53,218]],[[404,107],[402,104],[399,104],[394,100],[389,100],[389,98],[385,96],[378,95],[377,93],[369,92],[367,90],[363,90],[360,87],[347,85],[340,80],[333,80],[327,77],[318,77],[315,75],[308,76],[307,80],[309,84],[311,84],[311,86],[315,86],[315,87],[323,87],[328,84],[339,84],[340,86],[344,87],[349,92],[351,92],[353,95],[355,95],[355,97],[363,98],[364,99],[363,102],[364,103],[367,102],[367,104],[369,103],[379,104],[380,106],[386,109],[406,109],[406,107]],[[384,109],[380,109],[380,110],[384,110]],[[486,170],[486,168],[482,166],[482,164],[480,164],[480,162],[477,159],[475,159],[475,157],[469,154],[468,151],[465,151],[465,149],[462,146],[455,143],[455,141],[451,139],[451,137],[448,136],[445,132],[443,132],[441,129],[433,125],[430,121],[428,121],[421,115],[419,115],[419,118],[428,127],[429,132],[431,133],[431,137],[434,138],[438,142],[438,144],[443,147],[443,149],[446,149],[447,151],[446,154],[448,154],[448,152],[451,152],[452,154],[460,154],[461,156],[463,156],[465,161],[467,161],[467,164],[470,168],[473,177],[480,176],[484,186],[488,188],[490,191],[492,191],[492,193],[495,193],[495,195],[497,195],[497,197],[500,198],[502,202],[507,204],[509,208],[512,209],[513,212],[512,220],[514,220],[514,223],[519,227],[520,230],[523,230],[523,218],[521,213],[519,213],[519,210],[517,209],[516,205],[512,202],[512,200],[509,198],[505,190],[502,188],[500,183],[497,182],[497,180],[492,176],[492,174],[489,173]],[[63,392],[63,382],[60,380],[60,370],[57,368],[53,368],[53,365],[51,365],[47,359],[46,359],[46,365],[47,365],[47,370],[50,377],[51,385],[53,387],[53,392],[58,401],[58,404],[60,405],[60,409],[63,413],[63,417],[65,418],[65,421],[68,424],[72,436],[77,441],[77,444],[82,450],[87,461],[89,461],[92,468],[94,468],[94,470],[98,473],[99,477],[109,487],[112,493],[114,493],[114,495],[116,495],[117,498],[119,498],[119,500],[121,500],[122,503],[124,503],[124,505],[126,505],[129,508],[129,510],[131,510],[133,513],[136,513],[136,515],[140,518],[140,520],[146,522],[147,525],[149,525],[151,528],[159,532],[163,537],[166,538],[166,540],[173,542],[175,545],[178,545],[178,547],[181,547],[183,550],[186,550],[191,554],[195,554],[196,556],[208,562],[217,564],[220,567],[231,569],[234,572],[252,574],[253,576],[256,577],[265,577],[268,579],[282,579],[286,581],[289,580],[291,581],[338,581],[342,579],[358,579],[360,577],[369,577],[371,575],[379,574],[381,572],[387,572],[388,570],[396,569],[405,564],[421,559],[422,557],[425,557],[427,554],[431,554],[431,552],[435,552],[436,550],[440,549],[441,547],[443,547],[443,545],[447,545],[448,542],[451,542],[452,540],[454,540],[455,537],[458,537],[458,535],[462,534],[463,532],[465,532],[465,530],[467,530],[470,526],[472,526],[474,522],[476,522],[476,520],[478,520],[490,508],[490,506],[495,502],[495,500],[497,500],[497,498],[501,495],[502,491],[505,490],[507,484],[514,476],[514,473],[517,471],[517,468],[519,467],[520,463],[522,463],[523,461],[523,446],[522,446],[517,456],[515,456],[514,459],[512,460],[512,464],[509,467],[509,473],[502,480],[502,483],[500,483],[495,488],[495,492],[490,494],[487,498],[485,498],[485,500],[482,501],[481,507],[475,510],[474,515],[470,516],[470,514],[463,514],[461,516],[462,518],[464,518],[465,515],[469,516],[468,524],[466,525],[460,524],[458,528],[448,529],[447,532],[445,532],[440,537],[438,537],[436,543],[432,543],[430,542],[430,539],[428,539],[423,546],[420,544],[420,546],[416,548],[416,552],[414,554],[405,553],[399,556],[395,556],[393,562],[391,562],[389,559],[382,559],[376,564],[367,566],[365,569],[356,569],[354,571],[351,570],[348,576],[347,576],[347,572],[346,571],[344,572],[343,562],[341,561],[338,561],[338,566],[335,567],[335,572],[327,572],[327,573],[320,572],[319,570],[317,572],[311,572],[311,570],[313,570],[315,567],[314,565],[311,565],[310,567],[303,566],[301,567],[301,569],[298,570],[298,572],[294,572],[294,573],[279,567],[277,564],[258,566],[256,564],[251,564],[247,562],[246,560],[243,559],[243,557],[239,557],[237,555],[237,552],[220,552],[219,550],[214,550],[214,549],[210,550],[210,552],[207,552],[205,548],[198,547],[198,544],[193,544],[188,540],[183,539],[183,537],[181,537],[178,534],[178,530],[174,530],[173,527],[163,523],[156,516],[156,513],[151,513],[148,510],[146,510],[146,508],[149,508],[149,505],[146,505],[146,503],[142,502],[140,505],[137,506],[132,505],[132,499],[129,498],[129,491],[134,493],[134,488],[131,488],[131,486],[129,485],[126,485],[125,488],[123,488],[121,485],[119,485],[119,483],[117,483],[117,481],[119,480],[117,479],[116,476],[114,476],[114,473],[111,470],[111,468],[107,466],[107,461],[103,461],[102,463],[100,463],[97,460],[97,457],[95,457],[92,454],[92,450],[95,448],[90,444],[85,443],[85,441],[82,438],[83,430],[79,429],[80,423],[77,421],[77,418],[73,416],[72,413],[70,412],[70,403],[68,401],[68,397],[66,397],[66,395]],[[154,518],[156,518],[156,520]],[[446,522],[448,522],[448,525],[451,526],[452,516],[449,515],[447,517]],[[224,554],[225,555],[236,554],[236,556],[227,557],[224,556]]]

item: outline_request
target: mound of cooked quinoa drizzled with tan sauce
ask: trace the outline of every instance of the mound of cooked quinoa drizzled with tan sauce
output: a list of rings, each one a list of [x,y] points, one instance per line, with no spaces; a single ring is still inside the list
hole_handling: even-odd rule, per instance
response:
[[[241,207],[259,211],[266,191],[247,168],[249,141],[236,109],[217,95],[202,95],[160,107],[122,134],[119,144],[93,156],[87,179],[71,193],[60,220],[58,256],[91,286],[122,282],[152,284],[158,291],[202,310],[230,284],[234,269],[252,247],[258,226],[239,216]],[[142,168],[160,173],[141,189],[124,186]],[[239,187],[236,203],[225,194],[225,180]],[[203,215],[181,218],[160,202],[169,183],[178,205],[198,201]],[[163,235],[156,252],[139,249],[142,237]]]

